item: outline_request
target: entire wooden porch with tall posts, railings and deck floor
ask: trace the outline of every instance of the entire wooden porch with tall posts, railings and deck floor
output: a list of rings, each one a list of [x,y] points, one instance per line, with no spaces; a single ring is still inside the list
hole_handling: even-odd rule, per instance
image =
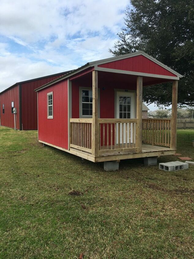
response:
[[[92,71],[92,118],[69,119],[69,152],[93,162],[176,154],[177,80],[172,119],[142,120],[142,89],[137,76],[136,118],[98,118],[98,71]]]

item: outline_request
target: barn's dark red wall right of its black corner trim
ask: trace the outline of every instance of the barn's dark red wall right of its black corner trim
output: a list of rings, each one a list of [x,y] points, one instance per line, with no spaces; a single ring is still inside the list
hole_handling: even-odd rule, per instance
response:
[[[22,84],[22,124],[23,130],[37,130],[37,96],[35,89],[61,77],[42,78]]]

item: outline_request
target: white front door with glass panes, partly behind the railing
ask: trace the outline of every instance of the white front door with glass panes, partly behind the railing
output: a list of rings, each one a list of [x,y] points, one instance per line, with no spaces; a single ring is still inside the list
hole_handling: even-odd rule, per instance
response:
[[[133,119],[135,116],[135,93],[129,92],[117,92],[117,118],[119,119]],[[127,126],[127,132],[129,132],[129,123],[124,124],[124,137],[123,143],[125,143],[125,127]],[[133,135],[133,124],[130,123],[131,128],[131,143]],[[122,143],[122,125],[120,124],[120,143]],[[118,125],[117,125],[117,143],[118,143]],[[127,136],[127,143],[129,143],[129,135]]]

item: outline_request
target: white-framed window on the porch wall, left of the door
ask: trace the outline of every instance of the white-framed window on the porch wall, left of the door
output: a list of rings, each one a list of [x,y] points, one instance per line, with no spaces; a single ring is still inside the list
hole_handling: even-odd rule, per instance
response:
[[[92,90],[81,90],[82,91],[82,116],[92,116]]]

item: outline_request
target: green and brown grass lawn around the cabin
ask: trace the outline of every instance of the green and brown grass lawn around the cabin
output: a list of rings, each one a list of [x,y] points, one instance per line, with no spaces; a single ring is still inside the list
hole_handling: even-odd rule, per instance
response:
[[[178,130],[177,153],[193,159],[193,139]],[[194,166],[165,172],[141,159],[105,172],[43,147],[37,131],[0,127],[0,258],[194,258],[193,179]]]

